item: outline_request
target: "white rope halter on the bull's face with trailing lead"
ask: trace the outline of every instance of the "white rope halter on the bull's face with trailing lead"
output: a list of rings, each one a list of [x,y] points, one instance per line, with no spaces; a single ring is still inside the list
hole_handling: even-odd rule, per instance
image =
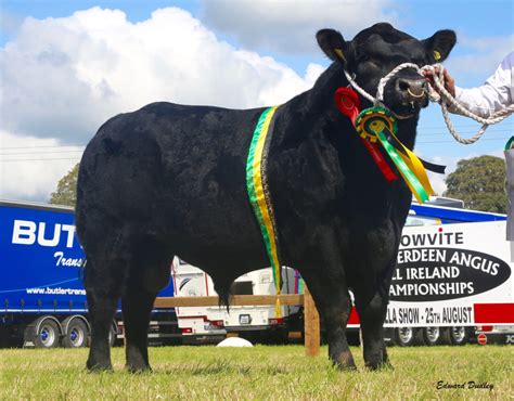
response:
[[[509,117],[511,114],[514,113],[514,104],[491,114],[488,118],[480,117],[480,116],[474,114],[473,112],[471,112],[470,109],[467,109],[463,104],[459,103],[455,100],[455,98],[453,98],[451,95],[450,92],[448,92],[446,90],[445,85],[444,85],[444,81],[445,81],[445,78],[444,78],[445,67],[441,64],[425,65],[421,68],[416,64],[413,64],[413,63],[400,64],[397,67],[395,67],[389,74],[387,74],[385,77],[383,77],[380,80],[378,87],[376,89],[376,95],[374,98],[371,94],[369,94],[364,89],[362,89],[355,81],[355,79],[349,75],[349,73],[346,69],[345,69],[345,75],[346,75],[346,79],[348,79],[348,81],[354,87],[354,89],[357,92],[359,92],[362,96],[368,99],[371,103],[373,103],[373,105],[386,107],[385,104],[384,104],[384,88],[387,85],[387,82],[389,81],[389,79],[393,78],[396,74],[398,74],[403,68],[413,68],[421,76],[423,76],[423,72],[425,72],[425,70],[431,70],[433,73],[434,83],[437,87],[440,95],[435,91],[435,89],[431,85],[429,86],[429,93],[428,93],[429,99],[431,99],[432,102],[439,102],[440,103],[442,117],[445,118],[445,122],[448,127],[448,130],[453,135],[455,141],[458,141],[460,143],[463,143],[463,144],[466,144],[466,145],[468,145],[471,143],[475,143],[476,141],[478,141],[480,139],[480,137],[484,134],[484,132],[486,132],[486,129],[490,125],[498,124],[498,122],[502,121],[504,118]],[[450,116],[449,116],[448,103],[454,109],[457,109],[460,114],[462,114],[466,117],[473,118],[475,121],[480,122],[483,125],[481,128],[478,130],[478,132],[476,134],[474,134],[470,139],[465,139],[465,138],[462,138],[459,134],[459,132],[457,132],[457,130],[453,127],[453,124],[451,122]],[[400,119],[410,118],[410,117],[399,116],[395,113],[393,113],[393,115],[396,118],[400,118]]]

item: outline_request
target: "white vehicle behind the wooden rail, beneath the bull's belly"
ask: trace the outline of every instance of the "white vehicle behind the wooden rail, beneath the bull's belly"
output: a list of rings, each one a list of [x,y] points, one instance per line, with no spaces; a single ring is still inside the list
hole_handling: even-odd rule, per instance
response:
[[[176,297],[216,295],[214,284],[205,272],[176,258],[172,267]],[[283,294],[301,292],[298,272],[283,269]],[[274,295],[271,268],[244,274],[232,285],[233,295]],[[281,316],[274,306],[220,306],[176,308],[179,327],[185,344],[217,342],[226,336],[240,336],[261,342],[284,342],[301,338],[300,307],[281,307]]]

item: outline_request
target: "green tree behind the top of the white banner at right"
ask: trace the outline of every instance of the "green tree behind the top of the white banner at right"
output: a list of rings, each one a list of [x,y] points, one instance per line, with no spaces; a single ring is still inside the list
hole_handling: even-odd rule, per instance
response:
[[[506,212],[505,161],[479,156],[462,159],[446,179],[444,196],[464,200],[467,209]]]

